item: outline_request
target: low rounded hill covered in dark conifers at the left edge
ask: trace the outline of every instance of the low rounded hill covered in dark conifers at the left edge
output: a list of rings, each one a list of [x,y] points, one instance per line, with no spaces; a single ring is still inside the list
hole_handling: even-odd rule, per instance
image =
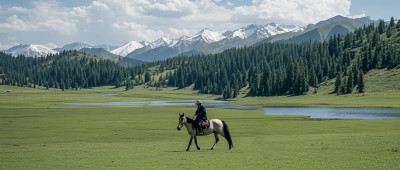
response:
[[[78,89],[124,84],[133,73],[113,61],[78,51],[63,51],[47,57],[12,57],[0,52],[2,85]]]

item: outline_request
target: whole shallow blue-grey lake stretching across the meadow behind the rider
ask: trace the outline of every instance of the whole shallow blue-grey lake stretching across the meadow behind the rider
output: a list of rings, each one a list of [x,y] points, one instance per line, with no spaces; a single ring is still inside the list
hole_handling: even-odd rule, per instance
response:
[[[172,106],[187,105],[195,107],[194,100],[171,101],[125,101],[125,102],[88,102],[62,103],[63,105],[91,106]],[[257,106],[230,105],[227,101],[204,100],[206,108],[257,110]],[[267,115],[302,115],[315,119],[400,119],[400,109],[387,108],[315,108],[315,107],[266,107]]]

